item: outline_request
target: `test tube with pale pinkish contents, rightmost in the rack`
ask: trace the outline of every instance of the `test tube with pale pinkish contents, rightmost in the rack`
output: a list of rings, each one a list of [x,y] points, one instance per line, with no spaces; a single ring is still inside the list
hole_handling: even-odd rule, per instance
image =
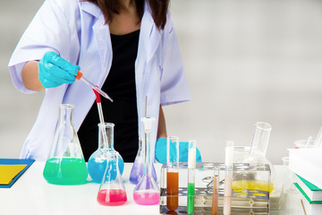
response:
[[[226,142],[225,147],[225,191],[224,215],[230,215],[232,210],[232,183],[233,183],[233,142]]]

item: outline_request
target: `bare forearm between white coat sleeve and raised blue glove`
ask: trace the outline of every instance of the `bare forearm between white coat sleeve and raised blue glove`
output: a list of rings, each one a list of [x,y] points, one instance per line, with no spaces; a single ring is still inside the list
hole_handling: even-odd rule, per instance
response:
[[[21,78],[28,90],[39,91],[45,89],[38,78],[38,61],[27,62],[22,68]]]

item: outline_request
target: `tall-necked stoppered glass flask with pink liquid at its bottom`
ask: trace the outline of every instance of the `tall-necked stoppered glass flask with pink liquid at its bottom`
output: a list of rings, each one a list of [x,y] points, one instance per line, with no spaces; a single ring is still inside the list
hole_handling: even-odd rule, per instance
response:
[[[141,122],[143,123],[144,139],[143,139],[143,151],[144,151],[144,168],[143,176],[140,179],[138,185],[135,186],[133,192],[134,202],[141,205],[154,205],[160,201],[160,190],[157,186],[157,182],[151,175],[151,129],[155,118],[143,117]]]

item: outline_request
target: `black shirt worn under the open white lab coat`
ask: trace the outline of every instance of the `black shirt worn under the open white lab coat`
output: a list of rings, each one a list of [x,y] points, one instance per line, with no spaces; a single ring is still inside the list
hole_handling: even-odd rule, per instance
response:
[[[138,109],[135,86],[135,60],[140,30],[125,35],[111,34],[113,59],[102,90],[114,100],[101,97],[105,122],[114,123],[114,149],[124,162],[133,162],[138,151]],[[97,150],[99,116],[94,102],[80,125],[78,136],[85,160]]]

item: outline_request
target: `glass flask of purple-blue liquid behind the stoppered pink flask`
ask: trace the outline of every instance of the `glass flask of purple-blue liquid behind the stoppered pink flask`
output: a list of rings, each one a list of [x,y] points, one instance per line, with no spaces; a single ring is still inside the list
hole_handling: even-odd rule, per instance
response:
[[[131,168],[130,182],[134,185],[140,182],[141,177],[143,176],[143,165],[144,165],[144,153],[142,146],[142,139],[139,139],[139,150],[137,156],[135,157],[133,166]],[[156,169],[152,163],[152,176],[157,181]]]

